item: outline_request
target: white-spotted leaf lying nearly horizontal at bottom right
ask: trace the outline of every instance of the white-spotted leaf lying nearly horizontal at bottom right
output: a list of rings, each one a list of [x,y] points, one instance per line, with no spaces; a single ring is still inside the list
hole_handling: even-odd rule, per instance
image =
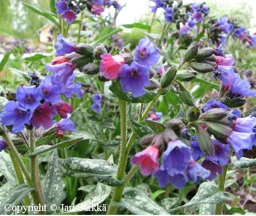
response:
[[[226,201],[232,201],[233,196],[228,192],[221,192],[218,190],[218,186],[210,181],[200,184],[196,195],[185,205],[171,209],[176,211],[183,207],[188,207],[196,204],[219,204]]]

